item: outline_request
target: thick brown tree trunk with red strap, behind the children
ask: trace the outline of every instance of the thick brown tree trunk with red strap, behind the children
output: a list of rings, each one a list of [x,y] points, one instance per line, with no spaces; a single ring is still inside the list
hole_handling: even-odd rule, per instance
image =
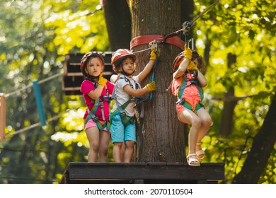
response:
[[[141,35],[167,35],[181,29],[180,1],[130,1],[132,9],[132,38]],[[192,12],[192,11],[190,11]],[[148,45],[133,47],[137,55],[137,73],[149,62]],[[137,147],[134,161],[183,162],[185,159],[184,124],[176,115],[176,98],[171,90],[173,59],[181,50],[174,45],[160,45],[161,56],[155,71],[156,91],[144,107],[144,117],[137,114]],[[150,82],[151,74],[142,82]],[[147,95],[146,95],[147,97]],[[138,112],[140,112],[141,107]]]

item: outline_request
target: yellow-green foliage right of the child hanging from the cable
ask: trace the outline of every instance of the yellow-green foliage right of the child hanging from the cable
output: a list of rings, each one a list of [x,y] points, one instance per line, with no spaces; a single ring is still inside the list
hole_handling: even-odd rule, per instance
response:
[[[194,13],[211,4],[195,3]],[[196,21],[194,32],[197,50],[203,54],[205,42],[211,41],[205,89],[207,108],[213,119],[210,132],[203,139],[207,148],[205,162],[224,162],[226,183],[231,183],[241,170],[251,149],[252,137],[260,129],[275,95],[275,8],[272,1],[219,1]],[[227,66],[227,54],[235,54],[236,63]],[[239,100],[234,110],[231,136],[219,135],[224,93],[234,88]],[[227,98],[226,98],[227,99]],[[228,98],[229,99],[229,98]],[[260,183],[275,183],[275,150]],[[271,175],[271,176],[268,176]]]

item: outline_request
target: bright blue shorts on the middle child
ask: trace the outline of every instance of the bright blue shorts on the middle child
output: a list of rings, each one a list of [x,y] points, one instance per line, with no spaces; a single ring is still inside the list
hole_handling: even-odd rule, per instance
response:
[[[111,120],[111,139],[112,143],[134,141],[136,144],[136,127],[135,122],[127,124],[125,127],[122,123],[120,114],[113,115]]]

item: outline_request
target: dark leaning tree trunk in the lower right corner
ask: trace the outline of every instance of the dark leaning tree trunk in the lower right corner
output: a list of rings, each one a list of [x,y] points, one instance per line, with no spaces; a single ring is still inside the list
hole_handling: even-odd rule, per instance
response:
[[[276,142],[276,96],[273,96],[268,114],[260,131],[253,139],[253,144],[248,157],[243,164],[241,172],[236,176],[234,183],[257,183],[268,163],[271,151]]]

